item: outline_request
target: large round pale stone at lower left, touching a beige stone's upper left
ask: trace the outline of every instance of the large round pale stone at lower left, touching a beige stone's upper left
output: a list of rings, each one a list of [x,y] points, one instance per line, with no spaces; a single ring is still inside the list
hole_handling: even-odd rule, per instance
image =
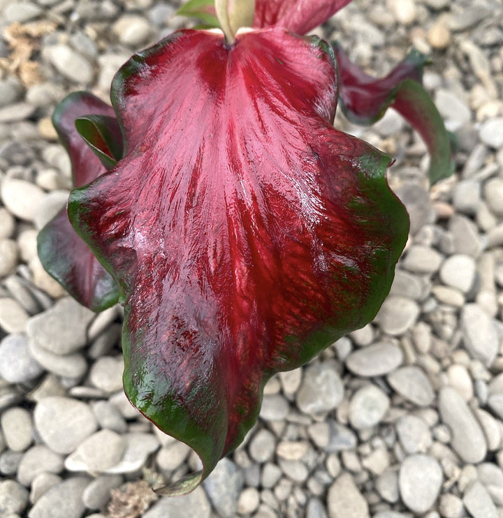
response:
[[[98,426],[87,404],[67,397],[41,399],[35,407],[34,420],[45,444],[58,453],[73,452]]]

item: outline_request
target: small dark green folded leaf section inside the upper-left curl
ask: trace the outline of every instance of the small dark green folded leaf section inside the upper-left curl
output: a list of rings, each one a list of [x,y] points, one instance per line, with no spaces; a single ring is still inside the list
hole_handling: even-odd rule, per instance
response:
[[[75,119],[75,128],[106,169],[122,158],[122,133],[115,117],[86,115]]]

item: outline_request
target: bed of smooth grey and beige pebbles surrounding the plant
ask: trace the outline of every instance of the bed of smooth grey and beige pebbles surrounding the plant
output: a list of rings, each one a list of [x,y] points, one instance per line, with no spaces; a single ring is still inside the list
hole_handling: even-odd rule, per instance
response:
[[[411,235],[377,318],[265,387],[258,423],[193,493],[198,468],[122,392],[121,310],[98,316],[46,274],[36,233],[70,165],[50,124],[68,92],[107,98],[136,50],[187,23],[177,1],[0,0],[0,516],[503,517],[503,5],[354,0],[319,29],[384,74],[410,45],[457,133],[457,173],[394,112],[337,126],[396,156]]]

